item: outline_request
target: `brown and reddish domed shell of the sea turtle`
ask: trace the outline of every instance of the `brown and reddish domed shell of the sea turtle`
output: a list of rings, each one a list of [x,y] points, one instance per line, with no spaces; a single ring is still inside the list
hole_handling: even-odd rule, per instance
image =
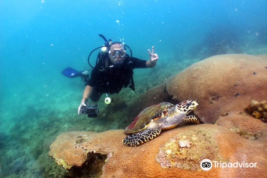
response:
[[[169,109],[174,106],[174,104],[169,102],[163,102],[145,108],[134,118],[134,121],[125,128],[124,133],[133,134],[145,130],[153,120],[165,117]]]

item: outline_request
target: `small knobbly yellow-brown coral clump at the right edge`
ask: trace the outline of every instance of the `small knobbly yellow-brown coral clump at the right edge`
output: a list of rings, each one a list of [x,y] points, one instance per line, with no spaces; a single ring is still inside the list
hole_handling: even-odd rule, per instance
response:
[[[267,102],[262,101],[258,102],[252,100],[251,103],[245,107],[245,111],[249,114],[252,114],[256,119],[267,123]]]

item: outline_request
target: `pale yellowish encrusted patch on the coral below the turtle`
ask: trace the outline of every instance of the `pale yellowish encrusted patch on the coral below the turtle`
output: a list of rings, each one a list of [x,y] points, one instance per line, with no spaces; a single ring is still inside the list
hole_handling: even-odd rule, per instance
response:
[[[227,162],[219,152],[214,135],[217,129],[191,129],[170,138],[159,148],[156,161],[161,167],[200,170],[199,160]]]

